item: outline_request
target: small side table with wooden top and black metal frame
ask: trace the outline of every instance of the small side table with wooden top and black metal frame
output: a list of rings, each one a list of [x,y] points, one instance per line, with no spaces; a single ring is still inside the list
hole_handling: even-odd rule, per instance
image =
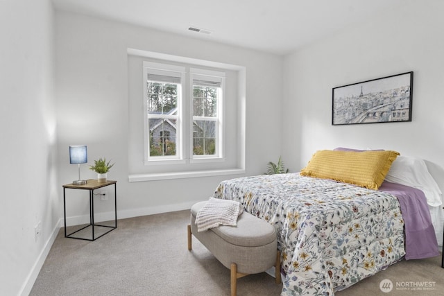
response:
[[[96,224],[94,223],[94,190],[105,186],[110,186],[112,184],[114,184],[114,226]],[[89,191],[89,225],[86,225],[85,227],[82,227],[76,230],[75,232],[71,232],[71,234],[67,234],[66,189],[80,189],[80,190]],[[106,182],[99,183],[97,182],[97,180],[91,179],[87,180],[87,183],[83,185],[74,185],[74,184],[63,185],[63,214],[65,216],[65,237],[67,238],[83,239],[85,241],[95,241],[97,238],[104,236],[105,234],[108,234],[108,232],[111,232],[112,230],[117,228],[117,181],[108,180]],[[91,229],[90,232],[92,232],[92,238],[82,238],[82,237],[73,236],[74,234],[82,231],[83,229],[88,229],[88,228]],[[103,229],[105,229],[105,232],[103,232]],[[102,230],[101,234],[97,237],[94,236],[94,232],[98,232],[99,230]]]

